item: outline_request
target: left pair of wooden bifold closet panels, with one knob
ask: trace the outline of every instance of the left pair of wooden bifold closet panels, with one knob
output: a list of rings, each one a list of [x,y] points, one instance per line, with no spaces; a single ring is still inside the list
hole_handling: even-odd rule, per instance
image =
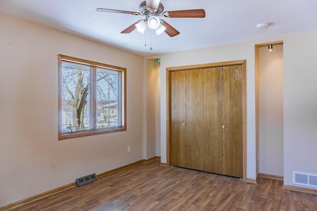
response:
[[[171,165],[203,170],[203,70],[170,74]]]

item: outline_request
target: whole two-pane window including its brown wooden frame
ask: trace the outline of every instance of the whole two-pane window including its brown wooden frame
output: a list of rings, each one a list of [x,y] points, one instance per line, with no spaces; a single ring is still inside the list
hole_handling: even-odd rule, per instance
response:
[[[58,140],[126,130],[126,69],[58,55]]]

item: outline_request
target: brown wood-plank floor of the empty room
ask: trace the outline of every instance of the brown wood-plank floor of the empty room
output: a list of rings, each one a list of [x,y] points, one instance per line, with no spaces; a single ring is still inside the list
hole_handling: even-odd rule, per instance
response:
[[[12,211],[317,211],[317,195],[178,167],[140,163]]]

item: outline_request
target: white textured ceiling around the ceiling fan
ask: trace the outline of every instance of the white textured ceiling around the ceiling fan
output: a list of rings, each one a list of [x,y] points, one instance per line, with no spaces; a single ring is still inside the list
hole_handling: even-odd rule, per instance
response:
[[[102,7],[139,12],[141,2],[0,0],[0,12],[140,55],[317,30],[317,0],[161,0],[164,11],[199,8],[206,11],[205,18],[161,18],[180,32],[175,37],[165,33],[156,35],[149,28],[145,34],[137,30],[120,34],[143,16],[96,11]],[[259,23],[269,23],[270,26],[258,29]]]

